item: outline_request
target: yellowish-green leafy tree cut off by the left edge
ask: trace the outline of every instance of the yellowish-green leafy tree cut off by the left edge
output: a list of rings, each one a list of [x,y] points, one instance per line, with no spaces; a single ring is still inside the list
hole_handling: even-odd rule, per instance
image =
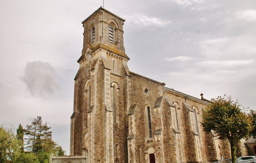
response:
[[[20,155],[20,141],[16,138],[13,127],[0,127],[0,163],[15,162]]]

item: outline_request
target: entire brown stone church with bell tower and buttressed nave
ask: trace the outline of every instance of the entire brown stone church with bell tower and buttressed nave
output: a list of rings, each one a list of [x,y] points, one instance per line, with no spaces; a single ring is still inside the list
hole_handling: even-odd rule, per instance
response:
[[[87,163],[199,163],[231,158],[229,142],[206,134],[200,125],[208,100],[129,71],[124,21],[100,7],[82,22],[70,155],[85,155]],[[243,145],[238,151],[246,155]]]

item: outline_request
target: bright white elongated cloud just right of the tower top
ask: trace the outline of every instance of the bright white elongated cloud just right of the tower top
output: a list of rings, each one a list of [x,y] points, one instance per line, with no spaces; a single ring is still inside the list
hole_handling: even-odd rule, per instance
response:
[[[142,26],[165,26],[171,23],[171,21],[161,20],[161,18],[159,17],[149,17],[145,14],[139,14],[139,13],[136,13],[133,15],[126,15],[123,17],[126,17],[126,19],[130,22],[133,22],[135,24],[142,25]]]

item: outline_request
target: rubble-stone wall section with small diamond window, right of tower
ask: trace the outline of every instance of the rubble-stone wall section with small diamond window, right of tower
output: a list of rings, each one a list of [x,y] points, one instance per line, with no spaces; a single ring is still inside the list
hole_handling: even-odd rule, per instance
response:
[[[155,124],[155,115],[154,115],[154,104],[159,95],[159,84],[146,80],[140,76],[136,76],[131,74],[130,77],[131,88],[129,92],[131,94],[130,105],[137,104],[135,109],[135,130],[136,134],[134,135],[135,140],[135,160],[136,162],[143,163],[145,162],[145,154],[149,147],[153,147],[156,151],[155,157],[156,160],[161,157],[161,154],[157,152],[161,150],[159,148],[155,148],[157,142],[154,140],[154,132],[156,129]],[[144,90],[148,89],[148,92],[145,93]],[[153,137],[149,138],[146,134],[147,118],[145,115],[146,106],[150,107],[150,114],[151,114],[151,124],[152,124],[152,134]]]

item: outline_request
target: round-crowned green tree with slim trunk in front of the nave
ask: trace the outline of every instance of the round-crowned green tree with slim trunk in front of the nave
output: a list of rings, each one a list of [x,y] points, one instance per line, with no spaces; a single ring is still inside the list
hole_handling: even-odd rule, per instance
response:
[[[215,133],[218,139],[228,139],[231,147],[232,163],[236,162],[235,144],[245,138],[251,131],[251,120],[238,102],[231,97],[211,99],[211,104],[203,114],[202,127],[207,133]]]

